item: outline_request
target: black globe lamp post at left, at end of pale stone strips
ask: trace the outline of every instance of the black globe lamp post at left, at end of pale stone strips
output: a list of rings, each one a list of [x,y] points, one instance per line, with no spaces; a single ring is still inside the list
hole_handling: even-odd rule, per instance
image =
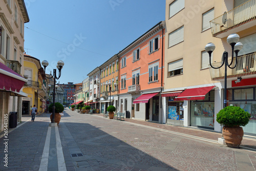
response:
[[[44,66],[44,72],[45,72],[45,76],[46,76],[46,67],[49,65],[47,60],[43,60],[42,61],[42,66]],[[59,70],[59,74],[58,76],[56,75],[56,69],[53,69],[53,75],[51,77],[47,77],[47,78],[54,78],[54,83],[53,83],[53,106],[52,106],[52,123],[55,123],[55,84],[56,84],[56,79],[60,78],[61,75],[61,69],[64,66],[64,62],[62,60],[59,60],[57,63],[57,69]]]

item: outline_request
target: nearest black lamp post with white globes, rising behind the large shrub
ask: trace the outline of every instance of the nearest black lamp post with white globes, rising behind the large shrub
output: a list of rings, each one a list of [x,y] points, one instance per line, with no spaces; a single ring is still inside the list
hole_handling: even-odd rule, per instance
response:
[[[223,52],[222,55],[222,64],[220,67],[212,67],[211,65],[211,60],[210,60],[210,66],[211,68],[214,69],[219,69],[221,68],[224,64],[225,64],[225,75],[224,75],[224,100],[223,100],[223,108],[225,108],[227,106],[227,67],[230,69],[234,69],[237,67],[238,64],[238,52],[243,48],[243,44],[239,41],[239,35],[234,33],[234,34],[230,34],[227,37],[227,42],[228,44],[231,46],[231,50],[232,50],[232,58],[231,58],[231,62],[228,63],[228,53],[226,51]],[[205,51],[209,54],[209,59],[211,57],[211,53],[215,50],[215,45],[212,44],[211,42],[208,43],[205,46]],[[234,65],[234,67],[231,67],[232,63],[233,63],[233,57],[234,57],[234,53],[236,53],[236,64]]]

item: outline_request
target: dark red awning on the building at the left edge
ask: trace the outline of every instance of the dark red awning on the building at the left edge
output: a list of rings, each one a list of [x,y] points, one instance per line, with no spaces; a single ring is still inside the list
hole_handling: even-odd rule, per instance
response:
[[[0,89],[19,92],[28,80],[0,62]]]

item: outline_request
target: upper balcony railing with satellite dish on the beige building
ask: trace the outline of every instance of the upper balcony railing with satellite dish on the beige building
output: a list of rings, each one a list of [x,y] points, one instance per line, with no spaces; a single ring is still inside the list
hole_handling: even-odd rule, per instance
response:
[[[256,19],[256,0],[248,1],[210,21],[211,33],[216,36]]]

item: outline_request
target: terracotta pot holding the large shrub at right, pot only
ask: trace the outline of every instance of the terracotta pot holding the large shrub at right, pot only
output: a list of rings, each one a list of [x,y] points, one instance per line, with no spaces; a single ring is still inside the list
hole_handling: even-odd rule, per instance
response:
[[[240,126],[224,126],[222,135],[228,147],[239,148],[244,136],[244,131]]]

